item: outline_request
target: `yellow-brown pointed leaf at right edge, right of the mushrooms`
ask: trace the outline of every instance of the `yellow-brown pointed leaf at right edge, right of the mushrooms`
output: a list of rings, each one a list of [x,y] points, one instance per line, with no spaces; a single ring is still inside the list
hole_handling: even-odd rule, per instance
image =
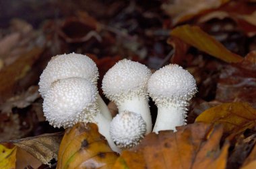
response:
[[[196,122],[224,125],[224,132],[237,135],[256,125],[256,109],[246,102],[224,103],[202,112]]]

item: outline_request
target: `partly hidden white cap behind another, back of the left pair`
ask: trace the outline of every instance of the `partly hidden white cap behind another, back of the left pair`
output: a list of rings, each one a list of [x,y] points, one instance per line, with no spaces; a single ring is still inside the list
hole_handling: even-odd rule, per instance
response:
[[[96,63],[86,55],[70,53],[52,57],[40,75],[40,81],[38,83],[42,98],[44,98],[53,81],[67,77],[83,77],[89,79],[96,85],[98,68]]]

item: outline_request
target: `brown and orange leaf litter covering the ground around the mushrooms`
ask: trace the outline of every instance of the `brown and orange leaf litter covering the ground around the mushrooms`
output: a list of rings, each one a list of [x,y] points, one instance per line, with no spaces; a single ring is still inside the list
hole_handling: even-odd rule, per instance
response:
[[[19,10],[0,11],[0,136],[17,149],[6,159],[11,165],[255,168],[255,1],[17,3]],[[26,18],[22,10],[33,15]],[[152,71],[168,63],[182,65],[199,88],[189,106],[190,124],[176,133],[150,133],[120,155],[110,151],[96,125],[80,124],[81,132],[75,126],[69,130],[76,134],[67,137],[66,131],[62,139],[55,132],[63,129],[44,122],[36,85],[52,56],[71,52],[86,53],[96,62],[99,89],[104,73],[124,57]],[[154,121],[157,109],[151,100],[150,106]],[[115,115],[113,102],[109,107]],[[78,153],[81,139],[90,137],[98,141],[92,139],[90,149]],[[65,156],[57,160],[58,151]]]

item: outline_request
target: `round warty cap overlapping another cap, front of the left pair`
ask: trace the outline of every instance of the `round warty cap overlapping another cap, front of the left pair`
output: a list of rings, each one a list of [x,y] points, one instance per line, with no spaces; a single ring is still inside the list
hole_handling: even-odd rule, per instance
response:
[[[79,122],[93,122],[98,112],[96,86],[81,77],[58,79],[46,92],[42,108],[53,127],[71,127]]]

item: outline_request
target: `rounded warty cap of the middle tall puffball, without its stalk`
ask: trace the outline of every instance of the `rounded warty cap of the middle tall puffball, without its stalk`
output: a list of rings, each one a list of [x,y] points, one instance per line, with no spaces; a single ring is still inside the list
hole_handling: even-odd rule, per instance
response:
[[[116,103],[133,96],[147,94],[150,69],[141,63],[123,59],[111,67],[102,79],[105,96]]]

